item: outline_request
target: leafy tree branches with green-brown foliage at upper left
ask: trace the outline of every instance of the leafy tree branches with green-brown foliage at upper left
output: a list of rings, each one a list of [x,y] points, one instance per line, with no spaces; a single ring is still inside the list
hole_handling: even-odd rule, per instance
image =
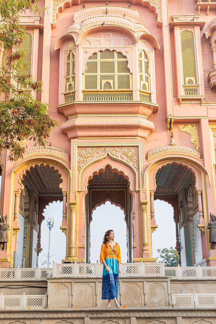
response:
[[[25,10],[40,12],[38,0],[0,0],[0,151],[10,150],[10,160],[22,157],[27,139],[45,145],[50,131],[58,123],[48,114],[48,106],[32,98],[41,81],[34,81],[20,44],[26,30],[19,24]],[[28,90],[28,91],[27,91]]]

